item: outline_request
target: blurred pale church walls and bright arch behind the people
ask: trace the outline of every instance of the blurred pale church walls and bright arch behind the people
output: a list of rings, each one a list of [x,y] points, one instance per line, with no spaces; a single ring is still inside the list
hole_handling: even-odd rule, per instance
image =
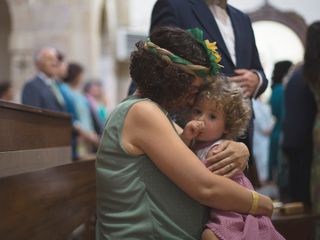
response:
[[[35,51],[53,46],[64,52],[67,60],[85,66],[86,79],[103,81],[108,107],[112,109],[127,94],[130,51],[137,40],[148,34],[154,2],[0,1],[1,79],[13,83],[19,102],[23,84],[35,72]],[[230,0],[229,3],[252,16],[260,58],[268,77],[274,62],[302,60],[301,36],[308,24],[319,19],[319,1]],[[270,8],[271,15],[263,14]]]

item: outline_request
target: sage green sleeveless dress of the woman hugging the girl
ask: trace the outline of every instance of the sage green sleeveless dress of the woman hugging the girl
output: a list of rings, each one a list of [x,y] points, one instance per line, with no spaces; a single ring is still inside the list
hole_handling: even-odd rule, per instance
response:
[[[110,115],[98,149],[96,239],[199,240],[208,208],[180,190],[146,155],[129,155],[122,128],[131,96]],[[134,129],[133,129],[134,131]]]

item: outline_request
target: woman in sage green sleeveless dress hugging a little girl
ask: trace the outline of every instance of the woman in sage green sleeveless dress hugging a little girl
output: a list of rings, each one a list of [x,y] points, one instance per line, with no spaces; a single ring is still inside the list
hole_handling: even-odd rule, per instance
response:
[[[201,36],[159,28],[131,55],[134,95],[110,114],[97,155],[96,239],[200,239],[208,208],[272,214],[272,201],[219,176],[243,170],[248,150],[227,141],[210,172],[167,114],[216,74]]]

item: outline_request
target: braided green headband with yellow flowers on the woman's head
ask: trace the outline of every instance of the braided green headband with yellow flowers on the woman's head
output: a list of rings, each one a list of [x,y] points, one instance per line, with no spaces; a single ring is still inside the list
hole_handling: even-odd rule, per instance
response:
[[[152,43],[149,38],[147,39],[144,47],[145,49],[148,49],[154,54],[160,56],[165,61],[178,64],[180,68],[191,74],[196,74],[200,77],[212,77],[217,75],[222,66],[218,64],[221,61],[221,56],[216,51],[218,49],[216,43],[210,43],[208,40],[203,40],[203,32],[199,28],[188,29],[187,32],[189,32],[206,50],[209,57],[210,68],[193,64],[192,62],[175,55],[164,48],[160,48],[156,44]]]

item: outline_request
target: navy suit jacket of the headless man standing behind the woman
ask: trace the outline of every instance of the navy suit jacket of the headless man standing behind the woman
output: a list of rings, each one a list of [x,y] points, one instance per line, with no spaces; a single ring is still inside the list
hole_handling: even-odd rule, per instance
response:
[[[177,26],[183,29],[200,28],[204,38],[217,42],[222,56],[221,72],[232,75],[236,68],[255,69],[262,77],[262,85],[257,96],[264,92],[268,85],[262,69],[250,18],[238,9],[227,5],[227,12],[232,22],[235,35],[236,65],[232,62],[218,25],[204,0],[158,0],[151,16],[152,32],[158,26]]]

